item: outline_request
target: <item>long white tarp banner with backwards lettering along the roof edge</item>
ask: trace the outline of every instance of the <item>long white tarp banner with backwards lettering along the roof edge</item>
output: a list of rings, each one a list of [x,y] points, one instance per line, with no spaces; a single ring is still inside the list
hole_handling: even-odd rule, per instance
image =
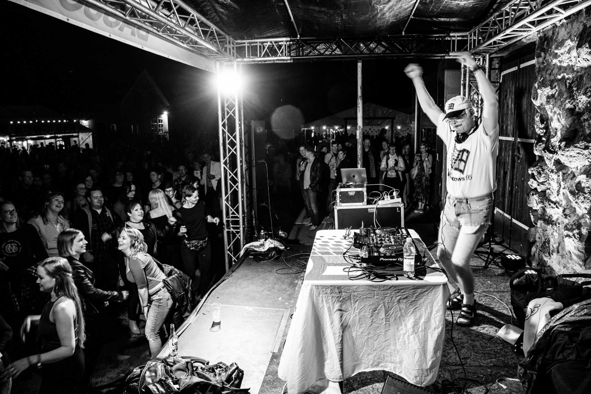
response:
[[[215,72],[215,63],[206,57],[169,43],[157,35],[118,20],[99,9],[76,0],[11,0],[95,33],[150,51],[202,70]],[[88,48],[92,51],[92,48]]]

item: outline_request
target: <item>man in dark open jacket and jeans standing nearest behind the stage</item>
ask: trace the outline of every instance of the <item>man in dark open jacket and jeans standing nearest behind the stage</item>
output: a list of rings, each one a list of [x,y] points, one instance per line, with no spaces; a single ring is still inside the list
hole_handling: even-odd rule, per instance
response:
[[[317,195],[322,189],[323,165],[326,166],[326,164],[324,164],[324,160],[316,157],[313,147],[306,147],[305,157],[308,164],[303,174],[300,175],[300,179],[303,182],[304,203],[311,215],[309,230],[316,230],[320,225]]]

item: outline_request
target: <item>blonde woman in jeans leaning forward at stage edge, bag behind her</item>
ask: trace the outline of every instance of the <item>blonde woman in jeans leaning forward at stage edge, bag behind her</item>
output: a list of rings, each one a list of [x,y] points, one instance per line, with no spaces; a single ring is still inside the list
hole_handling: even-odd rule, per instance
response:
[[[156,357],[162,347],[161,328],[173,307],[173,299],[162,281],[165,274],[147,253],[144,236],[139,230],[124,227],[118,239],[118,249],[125,255],[126,277],[138,288],[139,303],[146,317],[145,335],[150,353]]]

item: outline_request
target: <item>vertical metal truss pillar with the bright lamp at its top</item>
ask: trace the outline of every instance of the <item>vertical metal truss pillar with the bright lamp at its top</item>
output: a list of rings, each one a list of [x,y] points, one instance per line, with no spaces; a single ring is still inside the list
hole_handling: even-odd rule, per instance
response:
[[[225,68],[226,67],[226,68]],[[229,71],[241,77],[238,63],[217,64],[217,73]],[[244,193],[244,129],[242,92],[233,89],[217,91],[220,163],[222,165],[222,221],[224,245],[227,249],[226,270],[236,263],[245,244],[246,198]]]

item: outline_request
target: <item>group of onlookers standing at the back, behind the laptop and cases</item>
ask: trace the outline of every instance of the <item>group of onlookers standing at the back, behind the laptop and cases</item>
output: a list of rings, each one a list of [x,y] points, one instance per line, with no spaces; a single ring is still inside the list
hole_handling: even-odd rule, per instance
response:
[[[269,188],[274,193],[292,193],[300,189],[306,209],[305,219],[310,230],[316,230],[326,215],[332,212],[335,190],[343,182],[342,169],[357,167],[357,142],[353,134],[339,134],[333,141],[314,141],[315,146],[300,144],[293,158],[290,152],[267,147]],[[368,194],[377,197],[388,192],[401,198],[404,208],[414,206],[423,214],[430,202],[433,155],[427,143],[411,153],[410,135],[388,143],[383,135],[363,135],[362,167],[368,177]],[[289,164],[291,160],[294,164]],[[414,177],[411,170],[417,167]],[[293,177],[291,177],[293,174]],[[290,179],[291,178],[291,179]],[[377,194],[376,194],[377,193]]]

